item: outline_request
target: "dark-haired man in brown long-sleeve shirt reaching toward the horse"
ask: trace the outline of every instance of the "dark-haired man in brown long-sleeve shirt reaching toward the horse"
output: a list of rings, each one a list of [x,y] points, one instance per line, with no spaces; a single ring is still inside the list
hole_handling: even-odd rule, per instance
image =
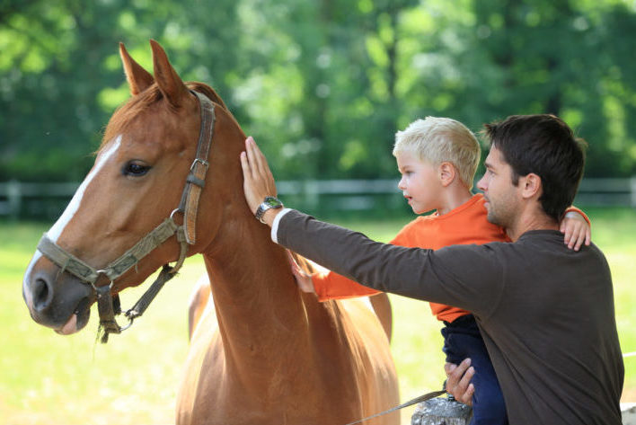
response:
[[[260,206],[276,189],[251,138],[241,156],[245,197],[275,242],[324,267],[473,312],[511,424],[620,424],[623,359],[610,271],[594,244],[568,250],[558,226],[583,173],[582,146],[552,115],[512,116],[486,134],[490,154],[478,188],[489,221],[513,243],[403,248]]]

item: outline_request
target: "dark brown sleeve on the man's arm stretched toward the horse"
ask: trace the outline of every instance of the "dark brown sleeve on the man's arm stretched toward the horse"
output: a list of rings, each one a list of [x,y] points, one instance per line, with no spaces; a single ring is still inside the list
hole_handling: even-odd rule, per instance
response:
[[[485,319],[499,303],[503,243],[437,251],[378,243],[296,210],[278,223],[278,243],[369,288],[455,305]]]

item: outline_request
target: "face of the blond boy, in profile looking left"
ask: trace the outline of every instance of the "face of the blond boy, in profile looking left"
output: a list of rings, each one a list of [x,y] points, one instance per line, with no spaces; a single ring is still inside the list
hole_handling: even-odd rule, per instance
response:
[[[396,153],[395,158],[402,174],[398,189],[402,190],[413,212],[422,214],[439,208],[441,184],[437,167],[408,151]]]

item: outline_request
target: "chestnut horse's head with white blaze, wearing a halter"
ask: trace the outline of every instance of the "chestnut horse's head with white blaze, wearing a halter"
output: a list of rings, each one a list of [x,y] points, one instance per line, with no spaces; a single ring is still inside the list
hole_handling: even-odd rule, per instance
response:
[[[186,251],[209,249],[229,211],[250,214],[236,191],[241,128],[214,90],[182,82],[162,47],[151,47],[154,75],[119,46],[132,96],[24,275],[31,317],[59,333],[81,330],[98,298],[111,303],[163,264],[181,266]]]

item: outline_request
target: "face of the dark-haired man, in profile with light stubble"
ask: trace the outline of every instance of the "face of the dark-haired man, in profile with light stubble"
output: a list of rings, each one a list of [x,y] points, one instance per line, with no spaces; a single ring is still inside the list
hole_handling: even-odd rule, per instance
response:
[[[512,167],[494,146],[490,147],[484,165],[486,173],[477,182],[477,188],[483,191],[486,199],[488,221],[493,225],[510,228],[517,218],[520,199],[518,185],[512,184]]]

